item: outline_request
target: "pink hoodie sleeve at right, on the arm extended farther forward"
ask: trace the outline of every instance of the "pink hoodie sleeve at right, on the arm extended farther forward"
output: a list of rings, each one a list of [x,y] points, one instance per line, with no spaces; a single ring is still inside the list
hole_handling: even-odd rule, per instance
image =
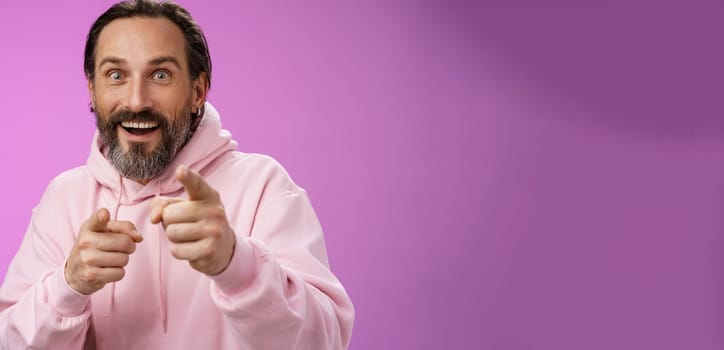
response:
[[[237,344],[249,349],[346,349],[354,308],[329,269],[322,228],[295,187],[259,208],[239,235],[212,299]]]

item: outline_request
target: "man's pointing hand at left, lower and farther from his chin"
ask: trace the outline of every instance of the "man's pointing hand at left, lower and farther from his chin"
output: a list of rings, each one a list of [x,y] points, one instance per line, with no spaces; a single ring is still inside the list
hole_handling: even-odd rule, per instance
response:
[[[125,275],[128,256],[143,237],[129,221],[111,221],[101,208],[83,224],[65,264],[65,280],[81,294],[90,295]]]

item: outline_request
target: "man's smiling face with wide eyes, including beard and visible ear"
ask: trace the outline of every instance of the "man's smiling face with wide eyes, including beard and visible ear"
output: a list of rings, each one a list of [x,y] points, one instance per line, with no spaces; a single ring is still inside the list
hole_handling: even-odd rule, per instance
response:
[[[191,81],[183,33],[165,18],[110,22],[95,55],[88,88],[107,156],[123,176],[147,183],[191,137],[205,75]]]

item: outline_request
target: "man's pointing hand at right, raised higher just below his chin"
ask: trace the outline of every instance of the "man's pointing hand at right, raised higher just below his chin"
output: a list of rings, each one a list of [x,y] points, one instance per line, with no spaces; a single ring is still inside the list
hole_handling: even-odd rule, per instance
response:
[[[229,266],[236,236],[216,192],[197,172],[179,166],[176,180],[188,200],[158,197],[151,203],[151,223],[163,223],[171,242],[171,255],[188,260],[191,267],[213,276]]]

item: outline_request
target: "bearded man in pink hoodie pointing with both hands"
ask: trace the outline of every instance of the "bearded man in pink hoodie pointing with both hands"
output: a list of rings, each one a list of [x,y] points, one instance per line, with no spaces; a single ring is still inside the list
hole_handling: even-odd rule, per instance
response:
[[[33,211],[0,288],[0,347],[346,348],[353,306],[307,196],[235,151],[188,12],[112,6],[85,74],[98,132]]]

